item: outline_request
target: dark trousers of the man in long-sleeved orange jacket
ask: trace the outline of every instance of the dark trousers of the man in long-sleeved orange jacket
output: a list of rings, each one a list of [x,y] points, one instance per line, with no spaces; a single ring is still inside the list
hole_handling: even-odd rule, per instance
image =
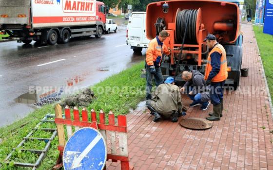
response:
[[[145,65],[145,68],[146,68],[146,100],[149,100],[152,98],[151,90],[153,87],[153,77],[155,78],[156,87],[158,85],[163,84],[164,78],[162,76],[162,72],[161,72],[160,67],[156,68],[155,74],[151,73],[150,68],[147,64]]]

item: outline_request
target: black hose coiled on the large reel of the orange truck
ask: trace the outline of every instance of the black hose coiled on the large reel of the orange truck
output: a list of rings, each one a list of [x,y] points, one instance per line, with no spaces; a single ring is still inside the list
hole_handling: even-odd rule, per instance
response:
[[[176,43],[182,43],[184,38],[183,34],[184,34],[187,36],[185,43],[197,44],[196,42],[197,12],[198,10],[188,10],[188,9],[184,9],[178,12],[176,17],[176,41],[177,41]],[[190,23],[186,26],[188,18]]]

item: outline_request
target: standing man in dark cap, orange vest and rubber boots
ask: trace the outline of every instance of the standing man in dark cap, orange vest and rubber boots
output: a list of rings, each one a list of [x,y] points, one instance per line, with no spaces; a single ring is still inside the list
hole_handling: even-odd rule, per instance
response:
[[[211,85],[210,99],[213,104],[213,113],[209,113],[208,120],[220,120],[223,115],[223,86],[228,78],[228,65],[226,51],[222,45],[217,43],[213,34],[208,34],[204,39],[211,49],[206,65],[205,77],[206,85]]]

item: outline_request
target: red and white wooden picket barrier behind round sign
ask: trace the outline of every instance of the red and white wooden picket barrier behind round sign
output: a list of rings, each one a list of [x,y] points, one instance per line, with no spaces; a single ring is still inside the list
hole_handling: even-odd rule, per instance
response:
[[[70,108],[66,106],[64,109],[65,118],[63,118],[61,106],[59,104],[57,104],[55,107],[55,115],[56,115],[55,123],[57,124],[58,136],[59,136],[58,150],[60,152],[57,164],[54,167],[55,170],[62,167],[62,153],[63,153],[63,149],[64,149],[66,141],[69,139],[70,136],[72,136],[74,131],[77,131],[81,127],[93,127],[100,131],[105,141],[109,143],[108,146],[110,145],[110,150],[107,153],[107,160],[111,159],[112,162],[117,162],[119,160],[121,163],[121,170],[133,169],[133,168],[130,168],[129,166],[127,122],[126,122],[125,115],[117,116],[117,124],[116,124],[115,116],[113,112],[110,111],[110,113],[108,114],[109,124],[106,124],[105,113],[102,110],[100,110],[99,123],[98,123],[97,113],[93,109],[91,110],[90,118],[88,118],[88,112],[86,111],[85,108],[82,109],[80,114],[78,111],[78,108],[74,107],[73,118],[72,118]],[[66,125],[66,133],[65,133],[64,125]],[[118,146],[117,146],[117,143],[118,143]]]

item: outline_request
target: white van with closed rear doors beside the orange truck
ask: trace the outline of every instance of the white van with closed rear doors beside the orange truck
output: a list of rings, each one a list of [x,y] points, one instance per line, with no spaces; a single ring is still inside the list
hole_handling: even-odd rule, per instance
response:
[[[126,44],[134,52],[148,48],[150,40],[146,38],[146,12],[133,12],[129,18],[126,31]]]

